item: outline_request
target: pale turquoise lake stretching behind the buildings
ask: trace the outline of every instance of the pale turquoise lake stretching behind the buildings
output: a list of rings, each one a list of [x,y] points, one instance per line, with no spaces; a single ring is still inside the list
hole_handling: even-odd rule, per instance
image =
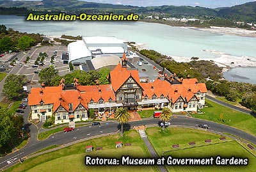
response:
[[[25,17],[0,15],[0,24],[27,33],[44,35],[115,36],[116,38],[143,43],[143,47],[154,49],[169,56],[219,58],[222,53],[230,56],[256,57],[256,38],[221,35],[197,29],[172,27],[145,22],[54,22],[26,21]],[[220,53],[216,53],[220,52]],[[240,71],[240,75],[246,75]],[[244,74],[243,74],[244,71]],[[229,74],[229,73],[228,73]],[[228,79],[226,74],[226,78]],[[256,80],[256,75],[250,79]],[[250,82],[250,79],[248,82]],[[234,80],[233,80],[234,81]]]

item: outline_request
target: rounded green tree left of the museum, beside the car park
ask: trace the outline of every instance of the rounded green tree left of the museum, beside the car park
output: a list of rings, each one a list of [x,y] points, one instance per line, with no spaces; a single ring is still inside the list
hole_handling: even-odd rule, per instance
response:
[[[24,75],[8,75],[4,81],[4,95],[6,95],[10,100],[19,97],[20,93],[24,90],[23,84],[25,81],[26,77]]]

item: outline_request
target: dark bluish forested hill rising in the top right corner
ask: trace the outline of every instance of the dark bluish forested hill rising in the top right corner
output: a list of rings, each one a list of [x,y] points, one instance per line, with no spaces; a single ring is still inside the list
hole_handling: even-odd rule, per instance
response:
[[[221,9],[218,15],[233,20],[256,21],[256,1]]]

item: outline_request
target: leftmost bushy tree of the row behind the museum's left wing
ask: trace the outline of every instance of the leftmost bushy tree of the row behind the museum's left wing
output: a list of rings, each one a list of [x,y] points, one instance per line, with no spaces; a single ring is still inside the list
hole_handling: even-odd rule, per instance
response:
[[[39,82],[44,82],[47,86],[52,86],[51,81],[56,78],[56,76],[58,76],[58,70],[53,67],[44,68],[38,74],[38,77],[40,78]]]

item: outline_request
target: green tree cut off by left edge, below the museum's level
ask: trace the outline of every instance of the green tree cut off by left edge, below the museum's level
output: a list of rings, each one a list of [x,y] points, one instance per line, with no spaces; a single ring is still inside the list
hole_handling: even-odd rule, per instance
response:
[[[5,108],[0,108],[0,148],[12,137],[13,122]]]

